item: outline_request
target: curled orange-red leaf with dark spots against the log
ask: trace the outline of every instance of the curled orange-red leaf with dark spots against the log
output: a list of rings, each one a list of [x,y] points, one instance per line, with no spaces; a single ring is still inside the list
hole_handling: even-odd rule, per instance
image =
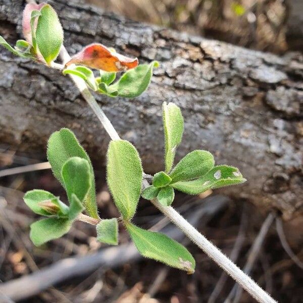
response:
[[[111,51],[102,44],[93,43],[85,46],[65,66],[71,64],[81,64],[106,72],[121,72],[137,67],[138,59],[125,57]]]

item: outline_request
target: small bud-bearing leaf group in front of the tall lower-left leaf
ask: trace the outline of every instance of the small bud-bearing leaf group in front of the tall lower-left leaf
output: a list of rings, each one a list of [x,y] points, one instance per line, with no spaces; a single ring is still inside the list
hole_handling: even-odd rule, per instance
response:
[[[66,234],[78,214],[84,210],[82,202],[91,187],[87,160],[72,157],[62,167],[61,177],[67,191],[69,207],[59,197],[34,189],[24,195],[26,205],[36,214],[49,218],[31,224],[30,238],[35,245]]]

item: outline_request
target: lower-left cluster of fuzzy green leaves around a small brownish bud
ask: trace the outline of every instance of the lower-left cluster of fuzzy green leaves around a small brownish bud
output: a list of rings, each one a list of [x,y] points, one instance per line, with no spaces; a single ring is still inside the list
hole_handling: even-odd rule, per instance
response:
[[[48,217],[31,224],[30,238],[37,246],[66,234],[84,210],[90,217],[99,219],[93,168],[73,132],[63,128],[49,137],[47,159],[54,176],[66,190],[69,205],[45,190],[34,189],[24,195],[26,205],[34,213]],[[116,218],[101,220],[96,230],[99,241],[118,243]]]

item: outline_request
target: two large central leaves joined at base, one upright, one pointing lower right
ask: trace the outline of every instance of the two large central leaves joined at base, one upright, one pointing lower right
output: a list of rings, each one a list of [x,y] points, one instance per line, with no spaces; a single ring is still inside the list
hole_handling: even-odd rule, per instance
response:
[[[136,148],[125,140],[111,141],[107,154],[107,182],[140,254],[193,273],[195,261],[184,246],[162,233],[147,231],[130,223],[140,197],[142,173]]]

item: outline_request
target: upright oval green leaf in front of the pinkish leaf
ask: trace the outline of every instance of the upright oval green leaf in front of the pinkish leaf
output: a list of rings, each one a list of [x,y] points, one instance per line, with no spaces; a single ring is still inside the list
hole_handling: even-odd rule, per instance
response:
[[[63,44],[63,29],[55,10],[45,5],[40,11],[36,28],[36,41],[41,55],[48,65],[54,61]]]

